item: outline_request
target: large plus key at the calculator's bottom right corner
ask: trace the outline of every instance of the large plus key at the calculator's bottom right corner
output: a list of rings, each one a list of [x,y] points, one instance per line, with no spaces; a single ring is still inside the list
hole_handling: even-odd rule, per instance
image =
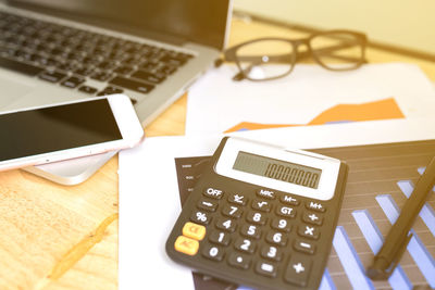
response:
[[[284,279],[296,286],[304,287],[307,286],[307,280],[310,275],[310,268],[311,260],[306,255],[295,253],[287,264]]]

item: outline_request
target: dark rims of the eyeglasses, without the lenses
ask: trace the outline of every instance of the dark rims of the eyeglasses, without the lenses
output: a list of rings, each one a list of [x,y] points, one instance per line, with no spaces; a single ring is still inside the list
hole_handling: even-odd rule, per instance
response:
[[[318,36],[328,35],[328,34],[348,34],[348,35],[352,35],[356,37],[356,39],[358,40],[358,43],[361,47],[361,58],[352,67],[333,68],[333,67],[326,66],[318,59],[318,55],[316,55],[316,53],[313,52],[310,42],[313,38],[315,38]],[[236,52],[239,48],[241,48],[244,46],[251,45],[253,42],[264,41],[264,40],[279,40],[279,41],[289,42],[291,45],[295,53],[291,53],[291,62],[285,62],[285,63],[290,64],[290,70],[287,73],[279,75],[279,76],[275,76],[275,77],[262,78],[262,79],[250,78],[245,73],[246,70],[241,68],[240,59],[237,56]],[[356,68],[360,67],[362,64],[368,62],[365,60],[366,43],[368,43],[368,37],[363,33],[347,30],[347,29],[333,29],[333,30],[326,30],[326,31],[321,31],[321,33],[314,33],[314,34],[310,35],[309,37],[298,38],[298,39],[279,38],[279,37],[265,37],[265,38],[252,39],[252,40],[236,45],[234,47],[231,47],[231,48],[226,49],[223,53],[224,53],[224,61],[235,62],[237,67],[239,68],[239,73],[233,79],[241,80],[241,79],[246,78],[246,79],[249,79],[252,81],[262,81],[262,80],[277,79],[277,78],[282,78],[282,77],[289,75],[293,72],[293,70],[295,68],[297,61],[300,59],[306,59],[308,56],[312,56],[318,64],[320,64],[322,67],[324,67],[325,70],[328,70],[328,71],[337,71],[338,72],[338,71],[356,70]],[[302,53],[299,53],[298,48],[301,45],[306,45],[308,50],[303,51]],[[286,54],[286,55],[289,55],[289,54]],[[249,56],[247,56],[247,58],[249,58]],[[258,56],[253,56],[253,58],[258,59]],[[281,56],[278,56],[278,58],[281,58]],[[223,61],[223,60],[221,60],[221,61]]]

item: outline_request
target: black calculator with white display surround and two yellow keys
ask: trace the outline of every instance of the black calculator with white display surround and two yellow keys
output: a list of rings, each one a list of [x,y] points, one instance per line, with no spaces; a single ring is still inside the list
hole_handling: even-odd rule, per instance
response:
[[[348,166],[302,150],[225,137],[166,241],[196,272],[257,289],[318,289]]]

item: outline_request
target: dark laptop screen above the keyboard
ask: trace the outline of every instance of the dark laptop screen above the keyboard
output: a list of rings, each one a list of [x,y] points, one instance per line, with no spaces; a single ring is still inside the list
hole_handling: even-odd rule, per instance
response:
[[[110,28],[128,27],[222,49],[229,0],[10,0],[23,8],[80,16]],[[86,22],[86,21],[85,21]]]

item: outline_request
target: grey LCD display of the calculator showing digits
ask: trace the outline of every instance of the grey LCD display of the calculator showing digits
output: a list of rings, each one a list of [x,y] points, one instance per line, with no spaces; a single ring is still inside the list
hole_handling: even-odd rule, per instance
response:
[[[233,169],[316,189],[322,171],[239,151]]]

